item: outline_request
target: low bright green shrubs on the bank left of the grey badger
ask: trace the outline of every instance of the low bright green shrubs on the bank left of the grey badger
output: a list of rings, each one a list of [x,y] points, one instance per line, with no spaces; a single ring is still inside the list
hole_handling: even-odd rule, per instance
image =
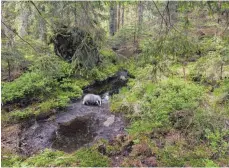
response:
[[[37,75],[37,73],[31,73],[31,74],[33,74],[35,77]],[[30,74],[25,74],[25,75],[30,77]],[[13,97],[14,100],[15,99],[20,100],[22,98],[32,99],[33,97],[38,97],[42,101],[40,103],[31,104],[24,109],[16,109],[16,110],[11,111],[8,114],[5,114],[5,118],[3,119],[4,121],[18,122],[24,119],[28,119],[30,117],[37,116],[37,115],[52,114],[55,111],[55,109],[65,108],[71,99],[81,97],[83,94],[83,91],[81,88],[88,84],[88,82],[85,80],[76,80],[76,79],[66,78],[58,83],[57,81],[52,82],[50,78],[45,79],[45,78],[42,78],[42,77],[40,78],[40,77],[41,76],[39,76],[38,79],[47,81],[49,85],[47,85],[45,81],[43,82],[37,81],[36,78],[32,80],[33,82],[29,81],[27,83],[25,82],[24,84],[24,80],[28,80],[28,78],[24,79],[24,76],[15,80],[14,82],[6,83],[6,86],[7,86],[6,88],[9,90],[6,90],[6,88],[3,87],[3,93],[4,93],[3,96],[7,97],[12,94],[12,97],[14,96]],[[20,83],[20,85],[18,83]],[[24,90],[19,90],[18,86],[21,86],[21,88]],[[35,88],[34,86],[36,86],[37,88]],[[15,90],[12,90],[11,88]],[[9,91],[9,92],[8,94],[5,94],[4,91],[5,92]],[[15,91],[15,92],[12,92],[12,91]],[[21,94],[20,97],[16,97],[18,91],[20,91],[19,92]],[[28,93],[28,94],[25,94],[25,93]],[[30,97],[27,97],[27,96],[30,96]]]

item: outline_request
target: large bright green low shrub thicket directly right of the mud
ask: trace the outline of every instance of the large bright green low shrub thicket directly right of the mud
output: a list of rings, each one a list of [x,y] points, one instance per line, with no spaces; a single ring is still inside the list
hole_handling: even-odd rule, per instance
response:
[[[111,110],[126,113],[130,110],[130,133],[151,131],[172,126],[170,114],[179,110],[192,111],[199,106],[203,88],[180,79],[168,79],[158,84],[135,81],[130,90],[121,90],[112,97]]]

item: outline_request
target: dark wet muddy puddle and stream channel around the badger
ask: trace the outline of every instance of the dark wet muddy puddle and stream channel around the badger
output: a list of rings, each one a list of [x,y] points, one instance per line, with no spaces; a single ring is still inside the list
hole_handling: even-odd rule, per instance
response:
[[[18,153],[31,155],[45,148],[71,153],[101,138],[110,140],[125,134],[124,119],[109,111],[109,97],[126,85],[127,75],[126,71],[118,72],[84,89],[85,94],[100,94],[102,106],[86,106],[81,99],[47,119],[30,121],[21,129]]]

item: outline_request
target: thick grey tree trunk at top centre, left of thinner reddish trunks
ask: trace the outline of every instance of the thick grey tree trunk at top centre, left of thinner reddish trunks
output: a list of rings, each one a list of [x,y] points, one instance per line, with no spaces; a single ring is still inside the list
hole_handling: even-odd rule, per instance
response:
[[[117,7],[115,2],[110,3],[110,35],[114,36],[117,30]]]

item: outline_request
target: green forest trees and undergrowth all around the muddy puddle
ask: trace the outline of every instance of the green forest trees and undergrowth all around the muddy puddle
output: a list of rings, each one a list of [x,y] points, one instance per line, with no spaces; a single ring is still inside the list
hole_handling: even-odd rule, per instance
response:
[[[229,165],[229,2],[1,1],[1,9],[3,139],[18,141],[22,123],[66,109],[95,81],[132,76],[110,100],[128,135],[32,156],[2,140],[2,166]]]

